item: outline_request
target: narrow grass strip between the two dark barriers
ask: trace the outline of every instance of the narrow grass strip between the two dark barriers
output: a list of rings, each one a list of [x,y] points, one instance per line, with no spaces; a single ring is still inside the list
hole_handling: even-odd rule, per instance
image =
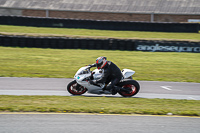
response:
[[[148,40],[188,40],[200,41],[199,33],[169,33],[169,32],[141,32],[141,31],[112,31],[75,28],[44,28],[26,26],[0,25],[0,34],[27,36],[68,36],[89,38],[120,38],[120,39],[148,39]]]

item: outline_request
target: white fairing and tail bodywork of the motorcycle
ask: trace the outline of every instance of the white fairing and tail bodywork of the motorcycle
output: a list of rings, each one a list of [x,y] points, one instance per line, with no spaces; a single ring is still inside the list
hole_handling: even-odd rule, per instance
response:
[[[102,89],[105,86],[104,84],[98,84],[99,86],[92,85],[88,82],[89,77],[93,74],[94,80],[100,79],[102,77],[103,69],[95,69],[92,72],[90,71],[90,66],[81,67],[75,74],[74,79],[78,84],[81,86],[84,86],[88,89],[88,93],[93,94],[101,94]],[[132,76],[135,73],[135,71],[132,71],[130,69],[123,69],[122,74],[124,78],[128,78]],[[109,91],[104,91],[104,94],[111,94]]]

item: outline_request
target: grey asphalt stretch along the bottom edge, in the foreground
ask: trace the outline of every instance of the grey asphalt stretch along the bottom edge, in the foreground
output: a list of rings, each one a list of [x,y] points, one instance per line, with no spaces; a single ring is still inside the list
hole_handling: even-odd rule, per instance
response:
[[[199,133],[200,118],[85,114],[0,114],[0,133]]]

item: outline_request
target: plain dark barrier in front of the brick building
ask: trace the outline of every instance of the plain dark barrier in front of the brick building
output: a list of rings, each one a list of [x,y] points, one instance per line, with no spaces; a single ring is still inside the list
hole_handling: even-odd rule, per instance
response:
[[[98,21],[22,16],[0,16],[0,24],[36,27],[86,28],[101,30],[190,32],[198,33],[198,23],[155,23],[129,21]]]

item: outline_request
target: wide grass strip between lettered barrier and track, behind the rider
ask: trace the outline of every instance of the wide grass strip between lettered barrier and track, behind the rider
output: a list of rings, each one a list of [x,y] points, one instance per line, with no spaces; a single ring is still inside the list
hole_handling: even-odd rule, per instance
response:
[[[136,80],[200,83],[200,54],[80,49],[0,47],[0,77],[73,78],[99,56],[120,69],[136,71]]]

